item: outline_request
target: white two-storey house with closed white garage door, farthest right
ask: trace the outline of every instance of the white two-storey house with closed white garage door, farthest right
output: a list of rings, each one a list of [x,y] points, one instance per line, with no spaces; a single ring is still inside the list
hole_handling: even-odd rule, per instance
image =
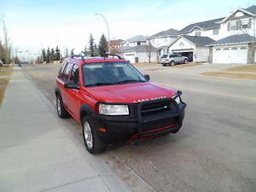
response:
[[[211,48],[212,63],[256,62],[256,6],[236,9],[220,21],[219,39]]]

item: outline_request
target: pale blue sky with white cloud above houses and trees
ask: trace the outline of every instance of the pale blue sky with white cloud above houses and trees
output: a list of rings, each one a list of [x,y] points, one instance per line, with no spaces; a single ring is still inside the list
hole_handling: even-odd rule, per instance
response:
[[[107,27],[96,13],[105,15],[110,38],[150,36],[169,28],[182,29],[190,23],[229,15],[247,8],[252,0],[0,0],[9,37],[16,49],[60,45],[77,51],[88,44],[90,32],[100,38]],[[3,38],[2,26],[0,38]]]

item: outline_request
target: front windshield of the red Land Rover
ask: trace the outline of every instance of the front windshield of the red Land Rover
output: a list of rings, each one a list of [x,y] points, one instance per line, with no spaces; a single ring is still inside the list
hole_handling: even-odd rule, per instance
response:
[[[143,75],[127,62],[84,64],[83,80],[86,87],[146,82]]]

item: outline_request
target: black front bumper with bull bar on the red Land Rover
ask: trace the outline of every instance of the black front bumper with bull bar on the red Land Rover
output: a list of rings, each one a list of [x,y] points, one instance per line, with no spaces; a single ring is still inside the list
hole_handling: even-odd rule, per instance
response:
[[[177,95],[181,94],[182,92],[178,91]],[[172,108],[143,114],[143,106],[157,102],[170,102]],[[131,143],[135,140],[160,137],[177,132],[183,124],[186,104],[182,100],[179,104],[175,102],[175,98],[169,98],[128,105],[131,114],[127,116],[93,115],[97,131],[105,143]],[[106,131],[99,131],[100,128]]]

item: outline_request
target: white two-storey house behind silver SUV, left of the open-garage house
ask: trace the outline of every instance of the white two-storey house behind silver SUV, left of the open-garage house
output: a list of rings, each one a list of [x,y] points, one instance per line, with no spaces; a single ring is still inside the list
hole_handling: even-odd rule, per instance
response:
[[[168,52],[167,46],[177,38],[176,29],[168,29],[163,32],[158,32],[147,38],[147,44],[153,45],[158,49],[158,56],[164,55]]]

